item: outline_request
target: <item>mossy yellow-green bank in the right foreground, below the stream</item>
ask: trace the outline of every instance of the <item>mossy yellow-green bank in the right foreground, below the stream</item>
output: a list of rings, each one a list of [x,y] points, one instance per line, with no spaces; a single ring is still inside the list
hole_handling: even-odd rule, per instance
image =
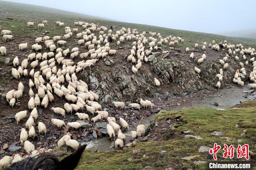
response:
[[[238,106],[241,108],[230,108],[226,109],[226,111],[200,107],[182,109],[180,111],[161,111],[157,114],[155,119],[162,123],[169,119],[173,120],[179,118],[181,120],[174,124],[174,127],[177,128],[174,130],[174,134],[170,135],[168,140],[161,142],[141,142],[136,144],[135,147],[125,148],[123,151],[86,151],[83,153],[77,169],[142,169],[145,166],[152,166],[154,169],[167,167],[180,169],[182,166],[188,169],[205,169],[204,166],[206,166],[206,164],[193,164],[193,161],[210,161],[210,159],[206,158],[208,155],[207,152],[198,152],[200,146],[212,147],[216,142],[220,144],[222,148],[224,143],[228,145],[233,144],[236,148],[238,139],[242,140],[239,144],[247,143],[250,146],[250,150],[255,152],[255,105],[255,101],[246,101],[242,103],[241,106]],[[238,124],[239,127],[235,127],[236,124]],[[246,134],[240,136],[245,129]],[[184,138],[182,131],[187,130],[191,131],[191,135],[201,136],[203,139]],[[214,131],[221,131],[225,135],[210,135]],[[163,135],[166,136],[168,134]],[[220,137],[231,138],[231,141],[226,142],[225,139],[220,139]],[[158,138],[161,138],[161,135],[159,135]],[[141,149],[141,152],[133,154],[132,150],[137,148]],[[167,151],[168,154],[159,157],[159,152],[162,150]],[[228,161],[228,159],[220,158],[222,153],[223,151],[218,152],[218,161]],[[182,157],[196,154],[200,155],[200,157],[192,159],[191,161],[181,159]],[[143,155],[146,155],[146,157],[143,157]]]

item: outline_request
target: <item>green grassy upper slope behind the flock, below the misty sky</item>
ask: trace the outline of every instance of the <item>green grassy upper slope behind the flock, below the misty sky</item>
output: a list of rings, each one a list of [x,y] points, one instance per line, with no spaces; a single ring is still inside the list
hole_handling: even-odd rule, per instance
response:
[[[0,25],[2,29],[10,29],[13,30],[11,26],[17,25],[15,29],[18,29],[17,33],[22,36],[34,36],[36,32],[28,32],[27,35],[22,34],[22,30],[26,28],[24,23],[29,21],[41,23],[42,20],[48,20],[48,23],[55,23],[57,20],[60,20],[65,23],[65,26],[73,26],[74,21],[85,20],[87,22],[99,23],[99,26],[116,26],[117,29],[121,27],[130,27],[131,29],[136,28],[139,32],[142,31],[153,31],[160,32],[162,35],[172,35],[172,36],[183,36],[185,39],[185,43],[179,43],[180,46],[184,47],[193,47],[195,43],[202,44],[203,42],[212,43],[214,39],[215,42],[221,42],[225,39],[230,43],[242,43],[245,47],[252,46],[255,47],[256,39],[249,38],[233,38],[215,34],[206,34],[201,32],[192,32],[192,31],[184,31],[184,30],[174,30],[170,28],[156,27],[156,26],[148,26],[142,24],[133,24],[133,23],[124,23],[124,22],[115,22],[110,20],[105,20],[102,18],[97,18],[89,15],[84,15],[80,13],[67,12],[59,9],[40,7],[35,5],[25,5],[19,3],[12,3],[6,1],[0,1],[0,15],[3,17],[11,17],[14,20],[6,20],[2,18],[0,20]],[[37,25],[37,23],[36,23]],[[19,27],[20,26],[20,27]],[[26,28],[27,29],[27,28]],[[44,30],[50,31],[49,36],[60,34],[57,29],[49,28],[49,25],[45,26]],[[23,31],[24,32],[24,31]],[[26,32],[26,31],[25,31]],[[15,33],[15,31],[14,31]],[[16,34],[15,36],[19,36]],[[63,32],[61,32],[63,34]]]

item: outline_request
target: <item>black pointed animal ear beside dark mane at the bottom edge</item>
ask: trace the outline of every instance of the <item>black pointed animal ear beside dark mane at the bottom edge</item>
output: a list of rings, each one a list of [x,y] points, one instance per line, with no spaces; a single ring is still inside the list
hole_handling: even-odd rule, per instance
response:
[[[60,166],[62,170],[71,170],[75,169],[76,165],[78,164],[80,157],[86,147],[86,144],[79,147],[73,154],[69,155],[68,157],[64,158],[60,161]]]

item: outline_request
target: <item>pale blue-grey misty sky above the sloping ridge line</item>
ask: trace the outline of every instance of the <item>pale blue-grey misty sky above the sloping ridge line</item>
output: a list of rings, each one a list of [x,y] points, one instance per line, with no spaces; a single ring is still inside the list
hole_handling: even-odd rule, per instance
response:
[[[256,28],[255,0],[8,1],[58,8],[122,22],[188,31],[221,33]]]

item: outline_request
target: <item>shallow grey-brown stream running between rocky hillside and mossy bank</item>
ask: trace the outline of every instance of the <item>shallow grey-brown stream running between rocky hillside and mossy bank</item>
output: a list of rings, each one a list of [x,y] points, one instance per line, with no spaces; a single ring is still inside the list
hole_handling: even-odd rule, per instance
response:
[[[249,91],[249,88],[246,87],[237,87],[234,86],[233,88],[229,89],[221,89],[217,90],[214,94],[210,97],[200,98],[197,100],[192,100],[191,102],[181,102],[180,106],[171,107],[171,108],[163,108],[166,110],[179,110],[182,108],[189,108],[189,107],[214,107],[214,108],[228,108],[233,105],[239,104],[241,101],[245,100],[253,100],[256,98],[256,93],[252,93],[253,95],[248,95],[245,98],[245,93],[243,91]],[[217,102],[220,106],[215,106],[214,103]],[[125,144],[130,143],[131,140],[131,131],[135,131],[135,127],[138,124],[144,124],[146,127],[150,124],[155,117],[155,114],[146,117],[145,119],[141,119],[135,125],[130,125],[128,131],[123,131],[126,136]],[[86,142],[87,150],[91,151],[107,151],[113,148],[114,142],[108,139],[108,137],[98,138],[95,140],[91,140],[90,142]]]

